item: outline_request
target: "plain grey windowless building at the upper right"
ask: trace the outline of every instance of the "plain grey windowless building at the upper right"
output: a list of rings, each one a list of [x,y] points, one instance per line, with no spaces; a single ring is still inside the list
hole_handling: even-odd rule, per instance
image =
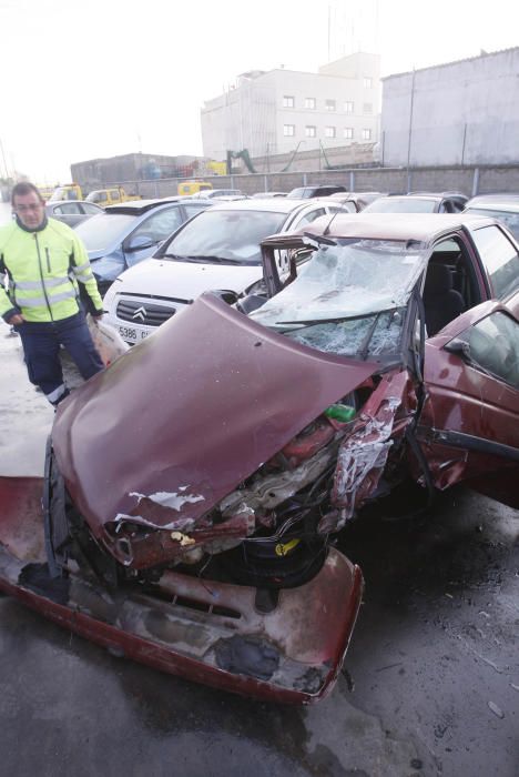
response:
[[[385,165],[519,159],[519,48],[383,79]]]

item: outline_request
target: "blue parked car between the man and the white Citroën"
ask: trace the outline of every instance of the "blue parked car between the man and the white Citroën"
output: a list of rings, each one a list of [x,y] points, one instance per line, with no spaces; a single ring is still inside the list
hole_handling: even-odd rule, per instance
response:
[[[126,268],[147,259],[187,219],[210,206],[207,200],[138,200],[111,205],[78,224],[101,293]]]

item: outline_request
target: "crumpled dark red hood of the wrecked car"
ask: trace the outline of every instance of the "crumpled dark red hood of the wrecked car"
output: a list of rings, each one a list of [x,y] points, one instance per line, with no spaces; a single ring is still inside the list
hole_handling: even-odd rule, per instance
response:
[[[376,370],[204,294],[62,403],[59,467],[95,535],[130,516],[193,525]]]

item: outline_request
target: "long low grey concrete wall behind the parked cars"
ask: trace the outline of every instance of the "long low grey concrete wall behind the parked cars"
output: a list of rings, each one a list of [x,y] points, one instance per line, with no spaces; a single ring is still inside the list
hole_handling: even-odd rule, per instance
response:
[[[264,191],[289,191],[312,183],[339,183],[350,191],[461,191],[468,196],[490,192],[519,193],[519,164],[487,168],[370,168],[355,170],[258,173],[255,175],[216,175],[204,179],[215,189],[241,189],[246,194]],[[176,194],[179,179],[157,181],[111,181],[108,185],[122,184],[143,198]]]

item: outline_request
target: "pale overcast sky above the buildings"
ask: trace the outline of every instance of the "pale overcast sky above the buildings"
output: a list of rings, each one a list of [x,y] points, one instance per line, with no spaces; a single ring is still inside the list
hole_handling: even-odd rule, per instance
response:
[[[200,110],[247,70],[355,51],[381,74],[519,46],[512,0],[0,0],[0,176],[202,154]]]

